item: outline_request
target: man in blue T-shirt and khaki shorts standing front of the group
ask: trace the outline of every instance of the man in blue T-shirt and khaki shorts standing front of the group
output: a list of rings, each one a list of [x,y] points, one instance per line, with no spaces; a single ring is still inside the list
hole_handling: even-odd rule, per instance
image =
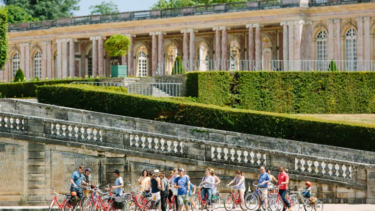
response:
[[[183,206],[185,205],[185,209],[189,210],[189,188],[190,188],[190,180],[188,177],[184,176],[185,169],[180,168],[177,170],[180,174],[179,177],[175,178],[174,180],[174,188],[177,188],[177,203],[178,203],[178,210],[183,211]],[[188,188],[189,187],[189,188]]]

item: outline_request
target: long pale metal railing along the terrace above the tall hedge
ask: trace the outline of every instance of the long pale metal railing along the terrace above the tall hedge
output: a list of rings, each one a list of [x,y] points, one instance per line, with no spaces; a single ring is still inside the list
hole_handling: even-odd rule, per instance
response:
[[[375,60],[188,60],[163,61],[158,75],[195,71],[375,71]]]

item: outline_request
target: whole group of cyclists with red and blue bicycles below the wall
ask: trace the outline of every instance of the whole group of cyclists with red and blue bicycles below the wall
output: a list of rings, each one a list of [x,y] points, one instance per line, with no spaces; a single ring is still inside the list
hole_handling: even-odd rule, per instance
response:
[[[169,175],[166,175],[166,172],[163,170],[159,171],[159,169],[150,172],[143,170],[138,179],[139,188],[134,188],[130,183],[127,183],[131,188],[131,193],[125,193],[123,191],[124,180],[118,169],[113,172],[115,177],[114,186],[107,185],[104,188],[104,191],[108,191],[107,193],[98,188],[100,184],[95,186],[91,183],[91,173],[91,169],[84,168],[83,165],[80,165],[78,170],[72,173],[70,178],[71,193],[69,196],[67,195],[66,201],[75,200],[76,204],[75,207],[72,207],[70,210],[75,210],[79,205],[81,211],[114,211],[119,208],[123,211],[130,209],[134,209],[135,211],[189,211],[189,208],[193,211],[201,211],[203,209],[212,211],[221,204],[220,195],[217,190],[217,186],[221,181],[220,178],[215,175],[214,169],[212,168],[207,168],[205,170],[205,174],[198,186],[192,184],[190,177],[183,168],[175,168],[173,171],[169,172]],[[242,175],[242,171],[236,171],[236,177],[226,184],[226,186],[233,189],[234,192],[231,190],[231,193],[225,197],[223,203],[224,208],[227,211],[231,211],[237,206],[240,206],[242,210],[257,209],[257,211],[260,211],[263,207],[264,210],[270,211],[290,211],[296,206],[295,203],[298,203],[299,209],[297,196],[297,201],[294,200],[293,196],[287,196],[290,190],[288,189],[289,176],[287,172],[285,172],[284,166],[279,167],[277,179],[270,173],[270,169],[266,171],[265,167],[261,166],[259,179],[253,183],[256,190],[251,192],[251,186],[249,186],[248,191],[246,191],[245,177]],[[273,182],[276,182],[277,186],[275,186]],[[302,195],[300,194],[304,199],[312,198],[311,185],[311,182],[306,181],[306,187],[303,189]],[[198,190],[198,193],[195,193],[196,190]],[[139,193],[139,195],[137,195],[137,193]],[[105,208],[105,205],[102,205],[102,207],[100,207],[95,201],[101,198],[101,196],[99,196],[101,194],[107,194],[107,196],[104,197],[106,202],[101,199],[103,204],[109,201],[115,204],[115,199],[121,198],[123,200],[120,200],[120,202],[123,203],[123,205],[108,205],[107,208]],[[83,200],[83,198],[86,199]],[[52,203],[52,201],[51,204],[53,207],[54,202]],[[311,204],[311,202],[306,201],[306,205],[308,204]],[[58,205],[60,207],[60,204]],[[323,204],[321,207],[323,209]],[[63,205],[62,208],[63,210],[67,210]],[[317,209],[315,208],[315,210]]]

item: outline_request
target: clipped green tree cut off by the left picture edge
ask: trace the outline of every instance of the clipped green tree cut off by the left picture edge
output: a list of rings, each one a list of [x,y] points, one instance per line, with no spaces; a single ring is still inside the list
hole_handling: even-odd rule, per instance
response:
[[[8,60],[8,11],[0,7],[0,70],[3,70]]]

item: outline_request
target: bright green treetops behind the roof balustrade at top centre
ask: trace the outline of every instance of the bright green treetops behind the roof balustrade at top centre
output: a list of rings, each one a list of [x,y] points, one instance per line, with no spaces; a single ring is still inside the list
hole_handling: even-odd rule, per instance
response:
[[[246,0],[158,0],[151,9],[167,9],[174,7],[188,7],[207,4],[222,4]]]

